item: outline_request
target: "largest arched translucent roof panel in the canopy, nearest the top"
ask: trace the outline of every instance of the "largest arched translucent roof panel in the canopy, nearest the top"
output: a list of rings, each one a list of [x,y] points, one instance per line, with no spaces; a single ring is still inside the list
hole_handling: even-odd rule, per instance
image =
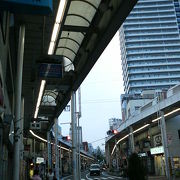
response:
[[[64,63],[65,66],[73,63],[100,2],[101,0],[71,0],[55,50],[56,55],[69,59]]]

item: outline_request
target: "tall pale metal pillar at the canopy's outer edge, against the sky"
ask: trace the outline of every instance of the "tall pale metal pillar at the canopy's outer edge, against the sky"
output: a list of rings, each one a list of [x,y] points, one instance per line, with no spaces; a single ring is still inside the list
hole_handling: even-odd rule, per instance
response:
[[[71,93],[71,129],[72,129],[72,168],[73,168],[73,180],[77,180],[77,122],[76,122],[76,93]]]

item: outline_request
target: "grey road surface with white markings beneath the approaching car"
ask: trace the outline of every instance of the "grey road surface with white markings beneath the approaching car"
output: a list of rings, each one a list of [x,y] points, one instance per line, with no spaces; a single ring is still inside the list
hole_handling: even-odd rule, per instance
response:
[[[102,172],[100,176],[90,176],[89,172],[86,171],[81,174],[81,180],[124,180],[122,177],[117,177],[117,176],[111,176],[108,175],[106,172]],[[72,180],[72,176],[68,176],[63,178],[63,180]]]

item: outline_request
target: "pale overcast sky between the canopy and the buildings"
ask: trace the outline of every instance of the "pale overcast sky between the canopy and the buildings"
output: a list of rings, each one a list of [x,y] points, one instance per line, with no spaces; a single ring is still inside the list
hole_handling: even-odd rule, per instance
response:
[[[110,118],[121,118],[120,94],[123,93],[122,69],[118,33],[104,50],[91,72],[81,85],[81,108],[83,141],[93,147],[104,148]],[[62,134],[69,134],[71,113],[63,112],[59,117]],[[94,142],[102,139],[101,141]]]

